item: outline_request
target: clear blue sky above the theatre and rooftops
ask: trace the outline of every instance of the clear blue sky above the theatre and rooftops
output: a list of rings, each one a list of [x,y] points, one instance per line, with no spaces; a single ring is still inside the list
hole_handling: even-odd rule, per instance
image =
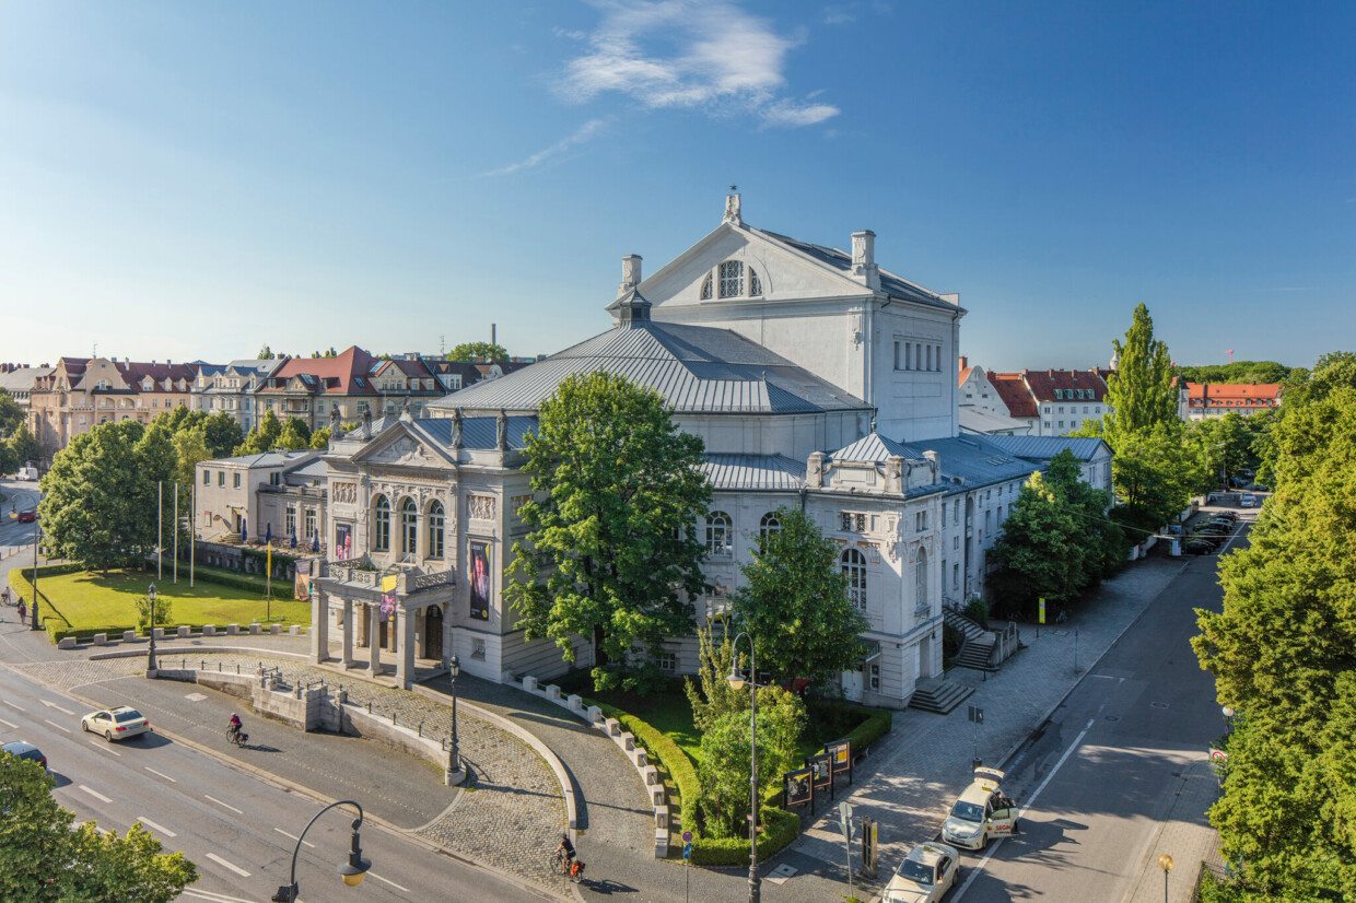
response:
[[[1356,4],[0,1],[0,361],[549,353],[720,221],[1092,366],[1356,346]]]

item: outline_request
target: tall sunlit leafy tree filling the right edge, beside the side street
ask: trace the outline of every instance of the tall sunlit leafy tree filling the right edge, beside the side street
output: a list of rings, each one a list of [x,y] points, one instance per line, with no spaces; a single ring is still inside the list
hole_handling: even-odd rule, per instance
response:
[[[1192,640],[1245,713],[1211,822],[1249,900],[1356,899],[1356,388],[1340,382],[1287,400],[1276,492]]]

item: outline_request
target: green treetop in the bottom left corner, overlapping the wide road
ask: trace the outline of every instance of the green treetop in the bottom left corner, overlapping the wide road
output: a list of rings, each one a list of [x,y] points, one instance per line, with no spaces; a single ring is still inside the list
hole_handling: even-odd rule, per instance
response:
[[[183,853],[164,854],[140,824],[122,837],[75,815],[52,796],[56,781],[35,762],[0,754],[0,900],[170,903],[198,880]]]

